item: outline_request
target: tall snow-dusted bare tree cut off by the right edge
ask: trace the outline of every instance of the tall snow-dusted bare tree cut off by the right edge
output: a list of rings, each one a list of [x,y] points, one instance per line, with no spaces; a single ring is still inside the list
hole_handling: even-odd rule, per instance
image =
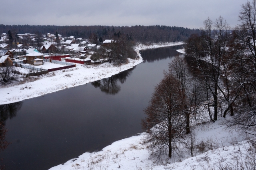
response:
[[[240,23],[233,32],[233,78],[241,87],[230,125],[245,132],[256,128],[256,0],[242,4]]]

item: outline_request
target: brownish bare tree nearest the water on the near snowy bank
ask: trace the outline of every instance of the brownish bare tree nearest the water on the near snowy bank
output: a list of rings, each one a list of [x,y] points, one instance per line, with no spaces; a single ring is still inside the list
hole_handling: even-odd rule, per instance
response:
[[[177,85],[178,81],[172,74],[165,72],[164,78],[155,87],[149,106],[144,110],[148,116],[142,121],[148,132],[144,144],[148,144],[153,156],[161,157],[168,153],[171,158],[184,132],[185,120]]]

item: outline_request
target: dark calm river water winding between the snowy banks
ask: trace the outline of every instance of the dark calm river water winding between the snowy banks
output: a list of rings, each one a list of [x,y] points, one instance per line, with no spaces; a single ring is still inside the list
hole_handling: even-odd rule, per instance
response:
[[[143,109],[181,47],[144,50],[144,62],[110,78],[0,105],[6,170],[47,170],[141,133]]]

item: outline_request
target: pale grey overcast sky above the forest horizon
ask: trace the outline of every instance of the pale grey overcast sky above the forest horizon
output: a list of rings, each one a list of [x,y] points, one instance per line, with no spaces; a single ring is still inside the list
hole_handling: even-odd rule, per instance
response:
[[[251,0],[252,1],[252,0]],[[167,25],[200,28],[209,16],[234,27],[247,0],[1,0],[0,24]]]

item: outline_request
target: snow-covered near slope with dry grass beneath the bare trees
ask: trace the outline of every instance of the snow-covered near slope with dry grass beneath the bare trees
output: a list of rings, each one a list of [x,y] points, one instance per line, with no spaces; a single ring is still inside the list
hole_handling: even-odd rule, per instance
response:
[[[174,155],[170,162],[160,164],[150,158],[150,151],[142,144],[142,133],[114,142],[99,152],[84,153],[50,170],[218,170],[220,166],[233,166],[244,162],[249,144],[237,131],[227,129],[225,121],[219,118],[215,123],[209,121],[194,128],[197,144],[203,141],[212,147],[204,153],[195,152],[194,157],[190,157],[188,149],[181,148],[182,157]]]

